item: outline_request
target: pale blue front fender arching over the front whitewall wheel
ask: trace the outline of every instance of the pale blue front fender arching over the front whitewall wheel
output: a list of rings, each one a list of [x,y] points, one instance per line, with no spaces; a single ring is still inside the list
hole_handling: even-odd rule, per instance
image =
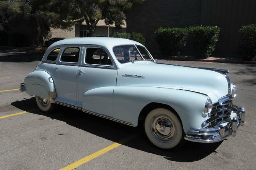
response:
[[[141,110],[149,103],[171,106],[182,121],[184,132],[191,127],[201,128],[207,96],[196,92],[145,86],[116,86],[114,88],[114,114],[119,120],[138,125]]]

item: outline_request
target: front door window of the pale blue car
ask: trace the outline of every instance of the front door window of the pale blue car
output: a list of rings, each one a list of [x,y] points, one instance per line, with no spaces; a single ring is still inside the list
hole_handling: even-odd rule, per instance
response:
[[[112,65],[108,53],[102,48],[87,48],[85,62],[87,64]]]

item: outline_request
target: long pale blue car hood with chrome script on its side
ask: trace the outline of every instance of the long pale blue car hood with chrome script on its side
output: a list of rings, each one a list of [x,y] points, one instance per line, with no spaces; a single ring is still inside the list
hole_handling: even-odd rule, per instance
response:
[[[220,72],[153,62],[119,69],[116,85],[188,90],[206,94],[213,102],[228,94],[228,81]]]

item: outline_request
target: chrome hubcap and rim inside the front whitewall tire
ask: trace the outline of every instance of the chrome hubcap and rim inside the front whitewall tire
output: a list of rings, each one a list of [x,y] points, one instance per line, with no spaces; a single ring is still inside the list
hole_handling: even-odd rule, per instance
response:
[[[150,129],[156,139],[161,142],[169,142],[175,135],[175,126],[166,115],[156,115],[152,118]]]

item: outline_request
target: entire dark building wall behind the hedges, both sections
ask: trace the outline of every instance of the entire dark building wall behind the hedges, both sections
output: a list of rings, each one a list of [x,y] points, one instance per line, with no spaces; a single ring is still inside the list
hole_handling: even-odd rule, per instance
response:
[[[215,54],[237,55],[243,25],[256,23],[256,0],[146,0],[127,14],[127,32],[140,32],[146,46],[159,52],[155,30],[159,27],[218,26]]]

